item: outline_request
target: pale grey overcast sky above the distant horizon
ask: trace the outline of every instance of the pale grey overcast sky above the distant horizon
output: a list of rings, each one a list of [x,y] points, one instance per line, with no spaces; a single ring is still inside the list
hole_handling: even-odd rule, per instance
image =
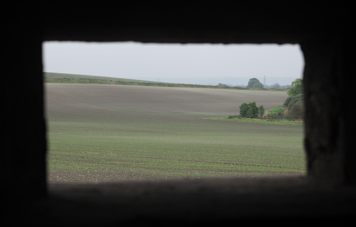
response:
[[[45,42],[43,54],[44,72],[199,84],[290,85],[304,67],[300,46],[289,44]]]

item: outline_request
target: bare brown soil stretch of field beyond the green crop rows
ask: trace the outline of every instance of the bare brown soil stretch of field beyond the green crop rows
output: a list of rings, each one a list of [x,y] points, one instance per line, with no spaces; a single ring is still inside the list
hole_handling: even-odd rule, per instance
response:
[[[163,113],[176,117],[228,117],[244,102],[256,102],[267,110],[283,104],[285,92],[194,88],[157,88],[97,84],[47,83],[48,110],[53,115],[90,109],[113,112]]]

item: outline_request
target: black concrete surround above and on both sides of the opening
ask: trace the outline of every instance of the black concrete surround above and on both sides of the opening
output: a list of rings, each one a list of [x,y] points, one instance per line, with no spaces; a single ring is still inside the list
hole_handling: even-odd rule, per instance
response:
[[[43,41],[168,43],[299,43],[305,55],[308,177],[355,183],[349,130],[353,63],[347,41],[348,6],[283,4],[193,6],[71,4],[11,5],[6,22],[6,155],[8,195],[46,195]],[[34,7],[34,8],[31,8]],[[354,81],[354,79],[352,80]]]

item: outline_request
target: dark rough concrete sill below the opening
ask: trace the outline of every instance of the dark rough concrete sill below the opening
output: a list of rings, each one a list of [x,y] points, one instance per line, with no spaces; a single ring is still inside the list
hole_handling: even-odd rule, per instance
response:
[[[63,226],[206,225],[256,220],[347,221],[350,187],[308,183],[304,176],[182,179],[108,184],[50,184],[49,195],[24,207],[23,224]]]

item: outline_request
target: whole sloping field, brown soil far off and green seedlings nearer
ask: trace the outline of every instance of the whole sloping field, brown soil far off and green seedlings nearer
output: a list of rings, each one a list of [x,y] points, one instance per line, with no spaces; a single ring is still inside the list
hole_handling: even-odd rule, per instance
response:
[[[48,181],[303,175],[303,126],[217,121],[285,92],[45,83]]]

